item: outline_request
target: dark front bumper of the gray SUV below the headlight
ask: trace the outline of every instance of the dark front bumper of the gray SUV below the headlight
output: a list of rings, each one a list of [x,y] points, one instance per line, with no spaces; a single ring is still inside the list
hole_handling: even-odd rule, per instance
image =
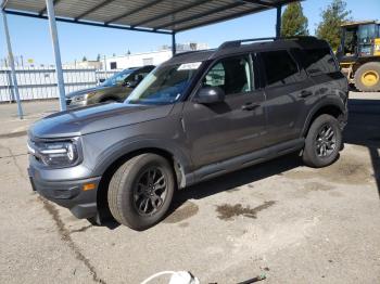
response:
[[[42,180],[38,171],[28,168],[28,175],[34,191],[47,199],[68,208],[72,214],[79,218],[90,218],[98,214],[97,192],[101,177],[66,180],[66,181],[47,181]],[[85,184],[93,183],[91,190],[84,190]]]

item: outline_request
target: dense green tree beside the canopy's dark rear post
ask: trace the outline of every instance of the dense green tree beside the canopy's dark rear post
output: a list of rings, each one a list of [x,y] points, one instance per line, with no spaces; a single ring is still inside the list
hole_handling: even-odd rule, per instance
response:
[[[307,36],[307,17],[305,17],[300,2],[292,2],[283,11],[281,21],[281,36]]]

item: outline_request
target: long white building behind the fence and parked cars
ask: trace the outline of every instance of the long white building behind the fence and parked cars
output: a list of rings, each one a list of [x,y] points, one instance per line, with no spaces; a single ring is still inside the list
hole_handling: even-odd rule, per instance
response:
[[[189,42],[177,44],[177,53],[208,49],[206,43]],[[172,57],[172,47],[164,46],[159,51],[118,55],[105,59],[106,69],[126,69],[145,65],[159,65]]]

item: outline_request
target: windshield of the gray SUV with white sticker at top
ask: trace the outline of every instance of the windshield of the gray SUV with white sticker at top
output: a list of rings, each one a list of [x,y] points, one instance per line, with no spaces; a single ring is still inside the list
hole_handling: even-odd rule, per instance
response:
[[[126,100],[128,104],[170,104],[186,91],[201,62],[155,68]]]

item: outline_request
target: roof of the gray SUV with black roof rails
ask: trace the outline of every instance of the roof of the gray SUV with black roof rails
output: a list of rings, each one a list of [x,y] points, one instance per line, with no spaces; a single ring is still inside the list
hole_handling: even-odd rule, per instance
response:
[[[315,37],[242,39],[226,41],[219,48],[213,50],[178,53],[164,65],[203,62],[245,52],[276,51],[283,49],[309,50],[320,48],[329,48],[329,44],[325,40]]]

